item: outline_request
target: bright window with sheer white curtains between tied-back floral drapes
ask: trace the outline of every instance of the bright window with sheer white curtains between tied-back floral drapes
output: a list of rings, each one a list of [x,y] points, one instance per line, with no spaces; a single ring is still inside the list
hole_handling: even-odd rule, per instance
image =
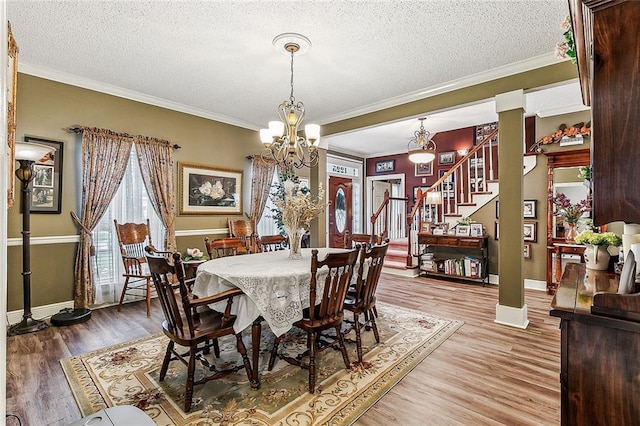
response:
[[[153,245],[162,250],[165,229],[149,201],[134,146],[120,188],[91,233],[96,249],[95,263],[92,265],[96,305],[117,302],[124,283],[124,268],[113,221],[143,223],[147,218]]]

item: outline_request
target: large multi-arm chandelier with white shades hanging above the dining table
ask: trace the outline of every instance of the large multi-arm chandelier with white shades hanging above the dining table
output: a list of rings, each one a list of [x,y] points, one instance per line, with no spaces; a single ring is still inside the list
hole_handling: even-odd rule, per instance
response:
[[[320,126],[307,124],[304,128],[306,138],[298,136],[305,111],[304,104],[296,102],[293,96],[293,56],[306,52],[311,41],[301,34],[284,33],[273,39],[273,45],[291,54],[291,94],[278,106],[280,121],[270,121],[269,128],[260,130],[260,140],[265,147],[261,157],[285,167],[314,167],[318,164]]]

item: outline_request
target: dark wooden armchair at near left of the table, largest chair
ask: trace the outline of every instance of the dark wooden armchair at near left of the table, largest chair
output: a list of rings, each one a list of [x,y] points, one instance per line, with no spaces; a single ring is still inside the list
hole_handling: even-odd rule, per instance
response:
[[[162,331],[169,338],[159,378],[160,381],[165,379],[171,361],[181,361],[187,366],[184,411],[188,412],[191,409],[195,385],[224,377],[242,368],[246,370],[247,378],[251,381],[252,370],[242,336],[233,330],[236,316],[231,315],[233,298],[242,295],[242,290],[232,289],[212,296],[195,298],[190,295],[185,282],[180,253],[175,253],[172,257],[173,264],[165,257],[147,256],[151,277],[164,312]],[[176,279],[173,280],[172,276]],[[224,312],[206,308],[211,303],[224,301],[227,302]],[[204,311],[198,313],[199,308],[204,308]],[[210,353],[213,347],[219,356],[217,339],[227,335],[236,337],[236,348],[242,356],[242,364],[223,370],[218,369],[205,355]],[[179,350],[176,344],[188,350]],[[196,361],[199,361],[205,370],[198,380],[195,380]],[[207,375],[206,372],[213,373]]]

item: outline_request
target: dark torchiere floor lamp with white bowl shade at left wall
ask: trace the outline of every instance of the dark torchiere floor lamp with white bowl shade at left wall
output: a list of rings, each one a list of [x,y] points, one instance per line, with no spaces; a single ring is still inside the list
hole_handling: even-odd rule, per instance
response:
[[[20,168],[16,176],[22,182],[22,321],[9,327],[7,334],[32,333],[47,327],[43,320],[33,319],[31,316],[31,181],[33,180],[33,163],[55,148],[36,143],[17,142],[15,145],[16,160]]]

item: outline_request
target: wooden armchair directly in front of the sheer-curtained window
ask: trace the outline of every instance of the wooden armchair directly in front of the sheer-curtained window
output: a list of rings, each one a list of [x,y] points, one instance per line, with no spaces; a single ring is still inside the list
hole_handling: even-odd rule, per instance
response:
[[[151,275],[145,258],[145,247],[150,247],[154,253],[167,254],[155,249],[149,232],[149,219],[146,223],[118,223],[113,221],[116,227],[118,245],[124,264],[125,278],[122,285],[122,293],[118,302],[118,311],[122,308],[125,295],[144,297],[147,302],[147,316],[151,311]]]

